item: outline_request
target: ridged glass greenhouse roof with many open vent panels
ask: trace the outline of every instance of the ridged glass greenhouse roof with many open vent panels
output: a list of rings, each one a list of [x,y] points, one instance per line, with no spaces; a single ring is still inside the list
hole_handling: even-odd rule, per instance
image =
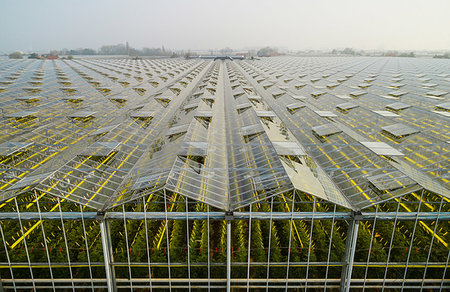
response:
[[[175,192],[233,211],[293,190],[353,210],[420,188],[450,198],[448,67],[318,60],[0,59],[1,80],[71,84],[2,83],[0,200],[36,190],[105,211]]]

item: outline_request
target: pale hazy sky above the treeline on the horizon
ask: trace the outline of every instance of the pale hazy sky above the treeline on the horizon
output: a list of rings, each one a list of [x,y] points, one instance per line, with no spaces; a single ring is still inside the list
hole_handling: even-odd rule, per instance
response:
[[[0,0],[0,52],[135,48],[450,50],[450,0]]]

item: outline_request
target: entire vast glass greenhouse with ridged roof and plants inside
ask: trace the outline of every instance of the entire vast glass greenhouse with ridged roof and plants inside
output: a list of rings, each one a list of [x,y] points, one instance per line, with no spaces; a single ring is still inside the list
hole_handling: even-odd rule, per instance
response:
[[[0,57],[0,289],[447,291],[450,61]]]

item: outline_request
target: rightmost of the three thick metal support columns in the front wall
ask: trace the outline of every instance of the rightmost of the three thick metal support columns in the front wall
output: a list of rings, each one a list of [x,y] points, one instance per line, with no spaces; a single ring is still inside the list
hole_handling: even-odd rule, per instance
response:
[[[359,220],[361,215],[354,214],[352,221],[348,226],[347,240],[345,243],[344,265],[341,274],[341,291],[350,291],[350,282],[352,280],[353,260],[356,251],[356,239],[358,238]]]

